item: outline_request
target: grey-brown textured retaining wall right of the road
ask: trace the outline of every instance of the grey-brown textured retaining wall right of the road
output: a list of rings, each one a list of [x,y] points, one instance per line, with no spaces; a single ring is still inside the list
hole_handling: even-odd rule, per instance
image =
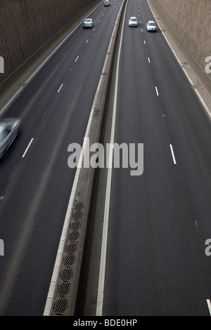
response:
[[[174,32],[174,40],[177,36],[179,48],[211,91],[211,0],[150,2]]]

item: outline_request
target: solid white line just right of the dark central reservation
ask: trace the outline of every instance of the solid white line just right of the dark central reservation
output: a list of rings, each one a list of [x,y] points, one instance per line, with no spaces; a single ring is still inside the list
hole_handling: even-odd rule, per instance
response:
[[[128,4],[128,2],[127,2],[127,4]],[[124,18],[125,18],[125,13],[126,13],[126,11],[124,11]],[[104,293],[105,273],[106,273],[106,249],[107,249],[107,237],[108,237],[110,187],[111,187],[112,164],[113,164],[113,143],[114,143],[114,136],[115,136],[115,117],[116,117],[116,110],[117,110],[117,89],[118,89],[118,76],[119,76],[119,67],[120,67],[120,52],[121,52],[121,46],[122,46],[123,27],[124,27],[124,25],[122,25],[120,48],[119,48],[118,57],[117,57],[117,71],[116,71],[116,77],[115,77],[113,121],[112,121],[111,133],[110,133],[108,176],[107,176],[107,184],[106,184],[105,209],[104,209],[104,216],[103,216],[103,237],[102,237],[102,243],[101,243],[101,261],[100,261],[100,270],[99,270],[99,278],[98,278],[98,296],[97,296],[97,304],[96,304],[96,316],[103,315],[103,293]]]

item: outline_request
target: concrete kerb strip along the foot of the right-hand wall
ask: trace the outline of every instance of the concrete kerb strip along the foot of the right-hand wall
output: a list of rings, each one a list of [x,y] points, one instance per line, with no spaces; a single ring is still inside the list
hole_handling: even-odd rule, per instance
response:
[[[186,74],[186,77],[191,82],[196,95],[200,99],[200,102],[203,104],[209,119],[211,119],[211,81],[207,77],[204,70],[200,67],[198,62],[193,55],[189,53],[186,46],[174,33],[173,29],[170,27],[169,23],[161,15],[157,6],[153,0],[147,0],[151,8],[151,11],[155,17],[155,20],[158,22],[160,30],[164,35],[167,43],[170,45],[172,52],[177,58],[179,64],[181,65],[182,70]]]

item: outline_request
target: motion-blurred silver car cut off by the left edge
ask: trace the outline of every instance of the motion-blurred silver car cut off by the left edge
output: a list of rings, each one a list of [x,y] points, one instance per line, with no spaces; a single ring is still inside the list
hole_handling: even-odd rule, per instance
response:
[[[21,131],[21,120],[17,118],[0,119],[0,159]]]

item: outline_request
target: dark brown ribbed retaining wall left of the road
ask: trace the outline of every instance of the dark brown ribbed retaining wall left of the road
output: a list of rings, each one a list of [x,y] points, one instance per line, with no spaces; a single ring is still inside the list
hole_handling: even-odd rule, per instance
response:
[[[96,0],[0,0],[0,84]]]

